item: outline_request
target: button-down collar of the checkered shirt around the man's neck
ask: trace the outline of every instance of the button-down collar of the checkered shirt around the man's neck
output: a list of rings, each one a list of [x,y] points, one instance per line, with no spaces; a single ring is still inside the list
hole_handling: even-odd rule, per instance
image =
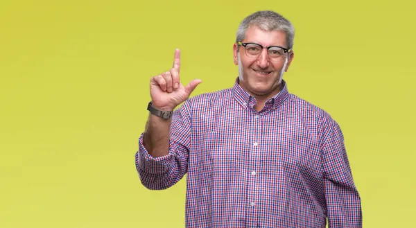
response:
[[[286,85],[285,80],[281,80],[281,85],[283,85],[283,88],[281,91],[279,91],[278,94],[275,96],[272,96],[272,98],[269,98],[268,101],[266,101],[265,107],[270,107],[272,109],[277,109],[286,98],[289,96],[288,87]],[[239,85],[239,78],[237,77],[234,82],[234,87],[232,87],[232,94],[236,101],[243,106],[243,108],[246,107],[253,107],[256,104],[256,98],[254,96],[251,96],[247,91]]]

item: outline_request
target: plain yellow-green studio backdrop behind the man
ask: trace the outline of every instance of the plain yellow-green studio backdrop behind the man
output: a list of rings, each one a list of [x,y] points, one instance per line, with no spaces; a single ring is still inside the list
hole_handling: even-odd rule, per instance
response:
[[[410,6],[413,4],[413,6]],[[195,96],[232,87],[237,26],[295,26],[291,93],[340,123],[364,227],[415,216],[412,1],[1,1],[0,227],[184,227],[185,178],[148,191],[135,152],[149,79],[182,51]]]

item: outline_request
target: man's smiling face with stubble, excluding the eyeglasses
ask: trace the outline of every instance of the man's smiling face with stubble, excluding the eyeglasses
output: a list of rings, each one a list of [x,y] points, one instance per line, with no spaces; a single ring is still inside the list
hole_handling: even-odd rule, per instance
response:
[[[284,31],[265,31],[257,26],[250,26],[243,43],[253,42],[261,46],[286,46]],[[243,46],[234,44],[234,64],[239,65],[240,85],[255,97],[271,97],[279,92],[279,85],[284,72],[288,71],[293,60],[293,52],[288,57],[285,53],[274,60],[268,58],[266,49],[261,51],[258,58],[250,58]],[[239,51],[238,51],[239,49]]]

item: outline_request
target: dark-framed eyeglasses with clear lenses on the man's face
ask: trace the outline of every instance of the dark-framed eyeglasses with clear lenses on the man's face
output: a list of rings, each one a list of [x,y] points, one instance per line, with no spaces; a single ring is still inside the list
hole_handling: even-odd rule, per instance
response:
[[[263,49],[267,49],[267,54],[270,60],[273,62],[279,61],[279,59],[285,54],[285,53],[291,53],[291,49],[285,49],[282,46],[261,46],[260,44],[256,43],[242,43],[238,42],[239,46],[243,46],[245,48],[245,54],[249,58],[259,58],[259,55],[261,54],[261,51]]]

